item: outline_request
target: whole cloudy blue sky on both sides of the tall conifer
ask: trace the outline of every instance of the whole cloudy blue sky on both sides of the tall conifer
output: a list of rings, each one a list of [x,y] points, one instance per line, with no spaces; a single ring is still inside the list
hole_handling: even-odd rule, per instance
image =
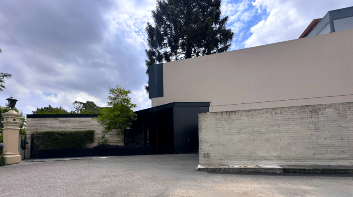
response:
[[[0,72],[11,73],[0,106],[23,114],[41,107],[74,110],[74,101],[107,106],[109,87],[131,90],[134,111],[151,107],[144,91],[146,23],[155,0],[4,0]],[[313,19],[351,0],[223,0],[234,32],[230,50],[298,39]]]

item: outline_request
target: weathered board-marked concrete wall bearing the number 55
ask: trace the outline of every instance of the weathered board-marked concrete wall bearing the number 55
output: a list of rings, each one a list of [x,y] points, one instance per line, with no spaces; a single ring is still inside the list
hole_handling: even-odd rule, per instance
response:
[[[198,122],[200,165],[353,165],[353,102],[199,113]]]

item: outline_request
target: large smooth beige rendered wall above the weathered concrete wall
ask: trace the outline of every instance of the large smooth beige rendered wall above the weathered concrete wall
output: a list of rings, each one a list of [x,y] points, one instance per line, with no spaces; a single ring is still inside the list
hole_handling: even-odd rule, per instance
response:
[[[352,95],[338,95],[353,94],[352,46],[353,29],[163,63],[164,96],[152,107],[209,101],[210,112],[219,112],[350,102]]]

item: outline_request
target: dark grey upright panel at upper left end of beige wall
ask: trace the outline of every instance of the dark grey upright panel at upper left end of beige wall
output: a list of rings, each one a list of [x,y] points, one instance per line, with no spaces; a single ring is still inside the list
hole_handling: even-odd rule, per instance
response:
[[[163,63],[148,67],[149,98],[163,97]]]

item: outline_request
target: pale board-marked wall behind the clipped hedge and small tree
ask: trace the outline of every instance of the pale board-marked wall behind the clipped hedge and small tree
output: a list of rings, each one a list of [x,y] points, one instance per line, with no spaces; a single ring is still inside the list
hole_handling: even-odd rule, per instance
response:
[[[33,131],[79,131],[94,130],[94,142],[86,144],[86,148],[97,145],[98,137],[102,136],[104,130],[95,118],[27,118],[26,132]],[[116,130],[106,134],[108,144],[123,145],[122,140],[116,135]]]

